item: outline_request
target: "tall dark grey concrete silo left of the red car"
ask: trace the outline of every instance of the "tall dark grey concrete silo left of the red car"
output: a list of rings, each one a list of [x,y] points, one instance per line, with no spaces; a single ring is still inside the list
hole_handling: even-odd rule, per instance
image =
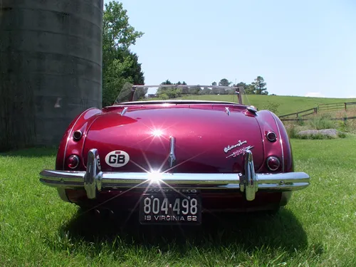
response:
[[[58,145],[101,108],[103,0],[0,0],[0,151]]]

